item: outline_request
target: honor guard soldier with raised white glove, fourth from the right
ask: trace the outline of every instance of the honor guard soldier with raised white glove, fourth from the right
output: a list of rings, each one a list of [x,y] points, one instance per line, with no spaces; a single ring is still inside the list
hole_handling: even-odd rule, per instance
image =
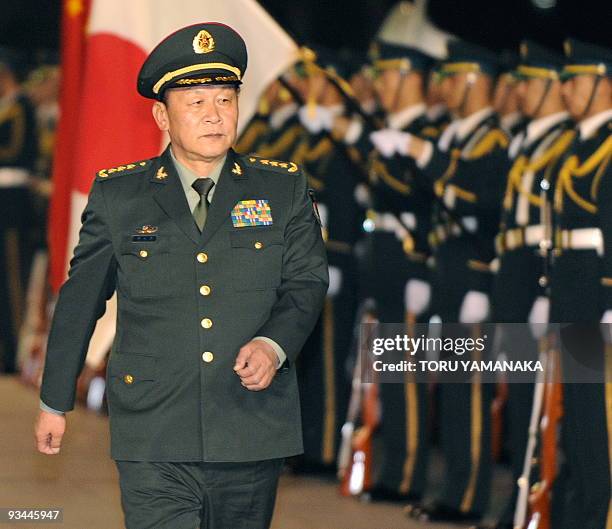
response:
[[[361,119],[337,119],[334,134],[353,146],[368,167],[371,208],[363,224],[363,292],[376,301],[381,323],[426,321],[429,304],[427,234],[430,200],[415,179],[413,163],[389,150],[396,134],[421,134],[425,116],[424,80],[431,58],[420,50],[376,42],[371,53],[374,88],[386,113],[386,129],[375,131]],[[427,387],[407,375],[405,384],[381,384],[382,461],[373,500],[412,501],[425,487]]]

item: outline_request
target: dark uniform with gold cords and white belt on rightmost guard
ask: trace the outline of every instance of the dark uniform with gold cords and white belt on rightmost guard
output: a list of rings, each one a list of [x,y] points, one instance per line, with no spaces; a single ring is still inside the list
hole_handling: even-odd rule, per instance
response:
[[[568,494],[574,498],[566,509],[574,510],[572,519],[595,529],[607,527],[610,493],[612,355],[610,346],[598,339],[598,322],[612,308],[612,112],[589,137],[579,136],[570,152],[555,191],[551,321],[583,324],[579,329],[590,331],[589,340],[564,345],[572,356],[608,373],[605,383],[602,378],[599,384],[563,386],[563,448]]]

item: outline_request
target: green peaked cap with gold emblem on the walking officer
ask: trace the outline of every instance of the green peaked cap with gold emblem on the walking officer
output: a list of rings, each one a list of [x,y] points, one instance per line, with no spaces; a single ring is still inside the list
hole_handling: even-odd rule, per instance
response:
[[[239,85],[247,67],[242,37],[218,22],[175,31],[149,54],[138,74],[138,93],[161,100],[168,88]]]

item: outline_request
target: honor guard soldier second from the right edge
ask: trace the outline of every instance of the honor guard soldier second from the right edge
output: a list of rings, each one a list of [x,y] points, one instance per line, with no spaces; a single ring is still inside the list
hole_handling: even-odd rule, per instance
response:
[[[551,241],[552,189],[559,165],[573,137],[573,122],[561,95],[564,58],[535,42],[521,43],[517,79],[518,106],[528,117],[524,131],[509,147],[507,176],[498,235],[499,266],[494,279],[492,320],[534,323],[504,326],[502,350],[509,359],[536,360],[537,338],[548,321],[548,260]],[[539,332],[538,332],[539,331]],[[523,473],[533,384],[508,384],[508,432],[514,483]],[[513,488],[495,529],[512,529],[518,487]],[[484,529],[484,526],[482,526]]]

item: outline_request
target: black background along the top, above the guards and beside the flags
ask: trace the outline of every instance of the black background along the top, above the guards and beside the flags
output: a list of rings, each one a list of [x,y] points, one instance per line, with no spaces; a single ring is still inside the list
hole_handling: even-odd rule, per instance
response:
[[[129,0],[128,0],[129,1]],[[168,0],[173,1],[173,0]],[[395,0],[260,0],[299,44],[365,51]],[[0,45],[57,50],[60,0],[3,0]],[[173,5],[180,8],[180,0]],[[552,5],[538,8],[537,5]],[[612,47],[612,9],[595,0],[430,0],[441,29],[494,50],[529,37],[561,50],[566,36]]]

